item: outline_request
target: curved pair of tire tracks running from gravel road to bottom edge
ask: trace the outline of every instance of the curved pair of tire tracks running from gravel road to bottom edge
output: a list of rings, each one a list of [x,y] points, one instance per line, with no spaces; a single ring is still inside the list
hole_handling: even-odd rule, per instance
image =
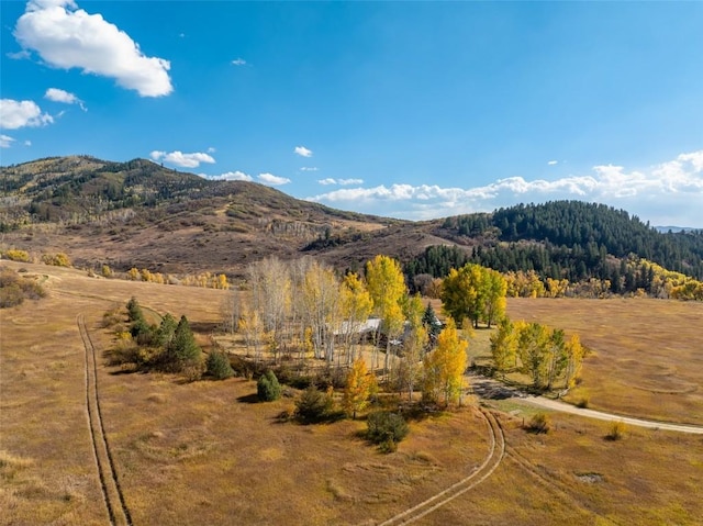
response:
[[[436,495],[421,502],[420,504],[399,513],[398,515],[380,523],[379,526],[393,526],[400,524],[411,524],[421,519],[425,515],[431,514],[435,510],[444,506],[445,504],[454,501],[456,497],[462,495],[467,491],[476,488],[486,479],[488,479],[493,471],[500,466],[503,456],[505,455],[505,435],[500,423],[493,416],[490,411],[481,407],[481,415],[486,421],[486,425],[489,432],[489,454],[483,460],[483,463],[476,469],[470,475],[461,479],[459,482],[451,484],[444,491],[440,491]]]

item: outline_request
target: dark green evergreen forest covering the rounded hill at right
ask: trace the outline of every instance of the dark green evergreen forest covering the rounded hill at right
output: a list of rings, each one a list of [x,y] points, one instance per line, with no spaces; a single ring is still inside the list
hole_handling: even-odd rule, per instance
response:
[[[520,204],[492,214],[447,217],[443,228],[457,236],[492,239],[487,249],[472,255],[473,261],[501,271],[535,270],[553,279],[615,282],[609,276],[612,269],[606,257],[622,259],[634,254],[703,280],[703,231],[662,234],[637,216],[604,204]],[[423,271],[428,270],[415,270]]]

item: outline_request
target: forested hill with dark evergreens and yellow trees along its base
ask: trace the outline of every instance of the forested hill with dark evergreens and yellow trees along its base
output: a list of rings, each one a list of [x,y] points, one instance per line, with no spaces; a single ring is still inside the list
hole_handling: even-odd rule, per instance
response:
[[[703,231],[660,233],[638,217],[579,201],[520,204],[492,214],[447,217],[442,228],[456,242],[480,238],[470,249],[432,246],[409,261],[410,277],[443,277],[478,262],[501,272],[534,272],[543,282],[607,281],[613,293],[638,289],[652,295],[657,275],[703,279]]]

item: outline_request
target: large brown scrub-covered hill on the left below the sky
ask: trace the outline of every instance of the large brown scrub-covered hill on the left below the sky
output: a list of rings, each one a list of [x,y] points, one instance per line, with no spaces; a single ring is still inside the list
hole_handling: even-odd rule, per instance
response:
[[[88,267],[238,275],[271,254],[300,257],[331,233],[362,237],[402,223],[146,159],[46,158],[3,167],[0,177],[2,245],[66,251]]]

